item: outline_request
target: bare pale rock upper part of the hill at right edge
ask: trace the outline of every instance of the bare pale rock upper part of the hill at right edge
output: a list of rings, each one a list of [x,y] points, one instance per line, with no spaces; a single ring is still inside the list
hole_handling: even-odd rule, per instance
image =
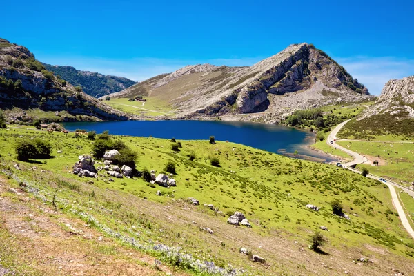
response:
[[[396,119],[414,119],[414,76],[388,81],[375,104],[359,119],[387,114]]]

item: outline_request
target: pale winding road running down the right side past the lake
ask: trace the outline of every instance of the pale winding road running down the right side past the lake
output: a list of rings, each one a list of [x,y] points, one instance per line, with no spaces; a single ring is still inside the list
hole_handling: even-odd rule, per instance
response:
[[[355,166],[356,164],[363,164],[366,161],[368,161],[368,159],[366,159],[366,157],[364,157],[362,155],[359,155],[357,152],[353,152],[352,150],[348,150],[347,148],[339,146],[336,143],[336,141],[338,140],[337,137],[336,137],[337,133],[339,132],[339,130],[341,130],[341,128],[346,123],[348,123],[348,121],[344,121],[343,123],[337,125],[335,127],[335,129],[332,130],[331,134],[328,135],[328,139],[326,139],[326,143],[329,146],[332,146],[334,148],[338,148],[339,150],[342,150],[343,152],[346,152],[348,155],[351,155],[354,158],[353,161],[342,164],[342,166],[344,168],[347,168],[348,170],[352,170],[353,172],[361,173],[359,170],[355,170],[355,168],[353,168],[352,166]],[[393,201],[393,205],[394,205],[395,209],[397,209],[398,216],[400,217],[402,225],[404,226],[404,228],[406,228],[408,234],[410,234],[411,237],[413,237],[413,239],[414,239],[414,230],[413,230],[413,228],[411,228],[411,225],[408,222],[408,219],[406,217],[406,213],[404,212],[404,208],[402,208],[402,206],[400,204],[400,200],[398,199],[397,192],[395,191],[394,187],[401,188],[402,190],[404,190],[404,192],[408,193],[408,195],[411,195],[411,197],[414,197],[414,191],[411,190],[411,189],[408,189],[404,186],[401,186],[400,184],[397,184],[393,181],[390,181],[388,179],[384,179],[383,177],[379,177],[377,175],[368,174],[368,175],[366,175],[366,177],[382,181],[384,184],[386,184],[386,186],[388,186],[388,188],[390,189],[391,199]],[[380,180],[380,179],[382,179],[382,180]]]

